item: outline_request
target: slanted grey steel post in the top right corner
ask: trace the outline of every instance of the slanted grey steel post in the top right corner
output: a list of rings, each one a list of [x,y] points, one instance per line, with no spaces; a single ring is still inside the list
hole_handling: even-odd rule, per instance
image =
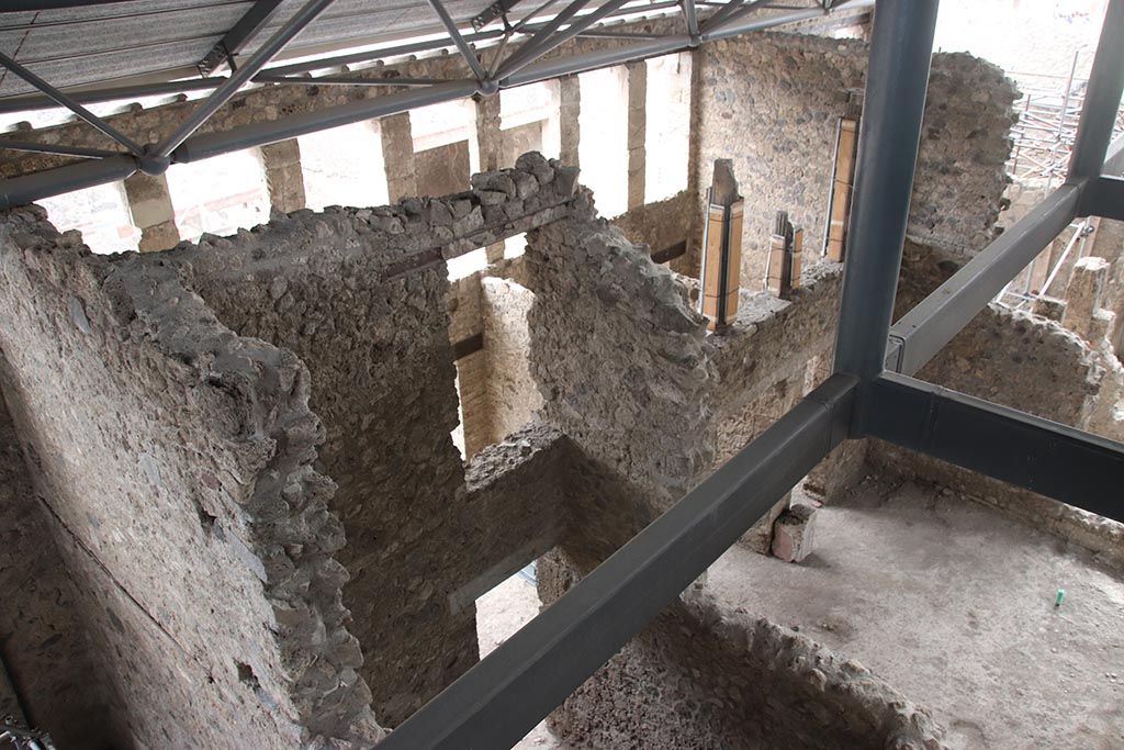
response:
[[[1069,180],[1098,177],[1105,151],[1113,136],[1116,112],[1124,91],[1124,0],[1108,0],[1100,27],[1097,54],[1085,91],[1085,106],[1077,125],[1073,154],[1069,160]]]

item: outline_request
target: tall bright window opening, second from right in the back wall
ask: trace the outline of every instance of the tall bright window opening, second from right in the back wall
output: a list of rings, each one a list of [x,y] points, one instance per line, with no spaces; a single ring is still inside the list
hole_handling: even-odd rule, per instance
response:
[[[581,87],[581,181],[605,217],[628,209],[628,88],[624,66],[578,76]]]

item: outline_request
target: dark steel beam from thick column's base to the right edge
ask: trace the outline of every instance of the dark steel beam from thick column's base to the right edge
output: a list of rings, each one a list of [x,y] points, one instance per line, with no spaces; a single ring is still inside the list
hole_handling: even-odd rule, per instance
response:
[[[872,394],[871,436],[1124,521],[1124,444],[899,374]]]

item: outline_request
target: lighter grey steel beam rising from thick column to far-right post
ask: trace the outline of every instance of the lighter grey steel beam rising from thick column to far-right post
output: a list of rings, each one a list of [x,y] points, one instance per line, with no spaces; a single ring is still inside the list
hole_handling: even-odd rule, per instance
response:
[[[1080,197],[1081,186],[1063,184],[909,310],[890,328],[886,367],[905,374],[924,367],[1069,226]]]

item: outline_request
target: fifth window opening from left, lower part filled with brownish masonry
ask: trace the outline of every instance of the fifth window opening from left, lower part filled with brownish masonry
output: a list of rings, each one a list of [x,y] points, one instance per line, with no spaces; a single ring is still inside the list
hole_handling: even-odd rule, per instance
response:
[[[547,159],[559,157],[562,130],[558,81],[505,89],[499,93],[499,101],[504,136],[501,166],[514,166],[515,160],[528,151],[541,152]]]

